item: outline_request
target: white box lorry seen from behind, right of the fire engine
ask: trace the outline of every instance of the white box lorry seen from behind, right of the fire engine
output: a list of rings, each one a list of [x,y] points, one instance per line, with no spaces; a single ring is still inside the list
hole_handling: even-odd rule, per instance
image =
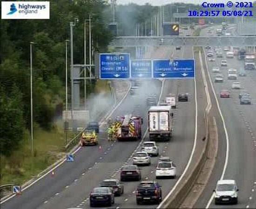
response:
[[[169,140],[172,136],[172,107],[151,106],[148,110],[149,140]]]

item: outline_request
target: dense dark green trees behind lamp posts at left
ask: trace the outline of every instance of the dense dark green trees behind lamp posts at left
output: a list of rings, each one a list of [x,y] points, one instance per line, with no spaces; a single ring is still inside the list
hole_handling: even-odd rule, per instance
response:
[[[112,38],[107,30],[108,20],[103,16],[108,7],[105,0],[54,0],[51,1],[50,20],[1,20],[1,154],[9,155],[19,146],[22,131],[30,129],[30,42],[35,43],[32,45],[34,125],[49,130],[56,107],[65,98],[65,40],[69,39],[69,22],[79,19],[74,26],[74,63],[81,64],[84,20],[89,13],[93,19],[93,50],[102,52]],[[68,46],[68,55],[69,52]],[[93,91],[94,85],[89,88],[88,92]],[[13,96],[15,93],[17,95]]]

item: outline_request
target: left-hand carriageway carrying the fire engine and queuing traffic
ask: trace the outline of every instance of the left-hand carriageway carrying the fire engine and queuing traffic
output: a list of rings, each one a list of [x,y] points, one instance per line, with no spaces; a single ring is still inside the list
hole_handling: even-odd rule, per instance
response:
[[[151,54],[151,58],[168,59],[193,58],[191,47],[182,47],[176,51],[171,46],[160,46]],[[162,86],[163,84],[163,86]],[[163,88],[162,88],[163,87]],[[162,90],[162,91],[161,91]],[[168,93],[188,92],[189,102],[178,103],[174,110],[174,132],[169,142],[157,143],[160,155],[170,156],[177,165],[177,178],[172,180],[159,180],[162,185],[162,197],[175,185],[182,171],[186,167],[194,144],[195,135],[195,98],[194,80],[160,80],[143,81],[138,96],[128,94],[121,105],[114,111],[113,118],[117,115],[128,113],[139,114],[144,118],[142,126],[143,140],[148,140],[146,98],[150,93],[156,93],[160,103]],[[202,111],[202,110],[201,110]],[[192,123],[191,123],[192,122]],[[139,141],[109,143],[106,140],[105,129],[101,129],[100,146],[82,147],[75,153],[74,163],[63,163],[54,175],[48,174],[40,181],[23,191],[22,195],[14,196],[1,204],[2,209],[65,209],[69,207],[89,208],[88,196],[90,191],[106,177],[119,178],[122,165],[131,163],[131,155],[139,150]],[[142,168],[142,179],[155,179],[155,167],[158,157],[152,157],[151,166]],[[115,198],[113,207],[138,208],[135,203],[135,187],[138,182],[124,183],[124,194]],[[154,207],[156,207],[155,205]],[[140,205],[148,208],[148,205]]]

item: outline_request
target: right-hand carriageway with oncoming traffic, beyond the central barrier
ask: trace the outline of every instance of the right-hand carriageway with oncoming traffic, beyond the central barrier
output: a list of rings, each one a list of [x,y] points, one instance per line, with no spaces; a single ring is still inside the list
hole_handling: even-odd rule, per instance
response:
[[[205,30],[202,33],[205,33]],[[213,201],[209,202],[209,208],[256,208],[256,72],[247,71],[247,77],[237,78],[237,81],[241,82],[243,90],[231,90],[233,80],[227,79],[227,71],[229,68],[244,69],[244,61],[239,61],[236,57],[227,59],[228,67],[221,67],[224,82],[214,83],[215,74],[219,73],[213,73],[211,69],[213,66],[220,66],[220,61],[221,58],[216,58],[215,62],[207,61],[207,65],[228,132],[228,161],[225,168],[226,137],[220,136],[219,132],[219,150],[215,170],[206,189],[196,202],[195,208],[207,206],[212,190],[215,189],[216,181],[221,178],[222,174],[224,179],[236,180],[239,189],[238,204],[216,206]],[[220,91],[223,89],[230,90],[231,98],[220,98]],[[241,91],[250,93],[251,105],[239,103],[238,94]]]

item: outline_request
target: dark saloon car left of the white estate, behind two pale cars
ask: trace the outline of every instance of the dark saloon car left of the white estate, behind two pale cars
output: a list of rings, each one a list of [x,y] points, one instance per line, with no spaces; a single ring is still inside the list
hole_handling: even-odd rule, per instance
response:
[[[141,180],[141,170],[137,165],[126,165],[122,168],[120,173],[120,180]]]

